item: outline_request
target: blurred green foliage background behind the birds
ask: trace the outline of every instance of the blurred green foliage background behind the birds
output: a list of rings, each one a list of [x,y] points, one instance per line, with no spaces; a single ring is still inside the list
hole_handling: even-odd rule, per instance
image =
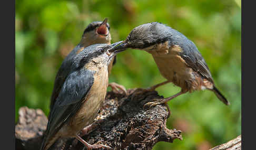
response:
[[[16,1],[15,119],[21,106],[49,112],[54,78],[85,27],[109,18],[112,42],[125,39],[141,24],[161,22],[191,39],[202,53],[217,87],[231,102],[225,106],[210,91],[186,93],[169,102],[169,128],[183,141],[160,142],[156,149],[209,149],[241,134],[241,0],[227,1]],[[110,82],[126,89],[165,81],[152,56],[139,50],[119,53]],[[110,89],[108,89],[110,90]],[[169,97],[172,83],[156,89]]]

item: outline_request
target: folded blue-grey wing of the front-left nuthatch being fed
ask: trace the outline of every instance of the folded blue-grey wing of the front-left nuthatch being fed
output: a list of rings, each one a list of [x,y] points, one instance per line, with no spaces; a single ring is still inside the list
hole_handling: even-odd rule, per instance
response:
[[[50,140],[80,108],[94,82],[93,74],[94,72],[83,68],[67,76],[51,110],[45,141]]]

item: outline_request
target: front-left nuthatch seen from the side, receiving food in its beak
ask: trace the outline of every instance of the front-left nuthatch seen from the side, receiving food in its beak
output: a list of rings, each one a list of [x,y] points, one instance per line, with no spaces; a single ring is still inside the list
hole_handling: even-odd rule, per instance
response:
[[[109,83],[108,66],[119,51],[111,52],[112,45],[95,44],[78,53],[67,70],[67,77],[58,93],[48,117],[41,150],[46,150],[60,137],[75,137],[86,147],[108,148],[102,144],[88,144],[78,133],[90,125],[105,99]]]

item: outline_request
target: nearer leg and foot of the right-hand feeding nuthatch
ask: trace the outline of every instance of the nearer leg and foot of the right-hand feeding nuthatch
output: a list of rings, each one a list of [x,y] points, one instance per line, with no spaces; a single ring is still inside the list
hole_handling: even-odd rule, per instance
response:
[[[153,99],[153,100],[154,100],[153,102],[147,102],[146,104],[144,104],[143,108],[152,108],[152,107],[155,106],[155,105],[159,105],[159,104],[165,103],[165,106],[166,106],[167,109],[168,109],[168,117],[169,117],[169,115],[171,114],[171,111],[170,111],[170,108],[169,108],[169,105],[167,104],[167,102],[170,101],[170,100],[172,100],[173,98],[178,97],[179,95],[181,95],[181,94],[183,94],[183,93],[184,93],[183,91],[180,91],[179,93],[176,93],[175,95],[172,95],[172,96],[169,97],[169,98]]]

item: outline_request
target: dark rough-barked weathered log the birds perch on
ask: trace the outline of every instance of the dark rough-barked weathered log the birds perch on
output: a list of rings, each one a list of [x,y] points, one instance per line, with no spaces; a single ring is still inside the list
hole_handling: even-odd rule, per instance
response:
[[[82,138],[90,144],[102,143],[114,149],[152,149],[160,141],[172,143],[182,140],[181,131],[169,130],[165,123],[168,117],[166,106],[157,105],[143,109],[146,102],[160,97],[156,91],[128,90],[128,95],[108,92],[106,100],[92,125],[92,130]],[[16,149],[39,149],[46,130],[47,117],[42,110],[19,109],[15,127]],[[50,149],[83,149],[75,140],[59,139]]]

